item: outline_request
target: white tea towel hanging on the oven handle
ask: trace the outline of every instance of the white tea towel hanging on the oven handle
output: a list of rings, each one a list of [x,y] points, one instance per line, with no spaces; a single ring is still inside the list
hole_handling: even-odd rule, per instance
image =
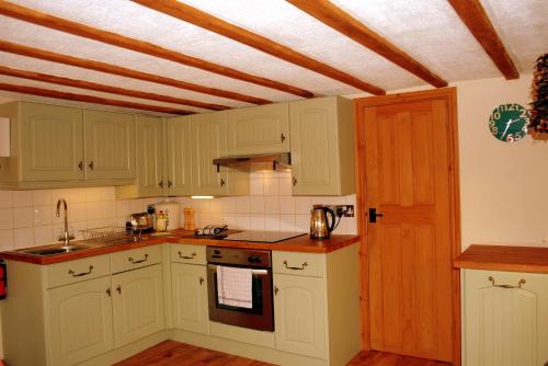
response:
[[[219,304],[251,309],[252,270],[217,265],[217,300]]]

